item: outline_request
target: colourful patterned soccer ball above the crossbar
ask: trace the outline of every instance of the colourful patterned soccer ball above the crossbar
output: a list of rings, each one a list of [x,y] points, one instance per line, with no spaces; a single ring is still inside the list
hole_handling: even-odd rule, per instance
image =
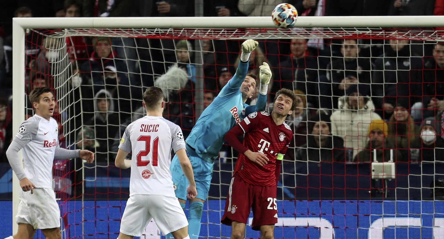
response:
[[[281,3],[271,12],[273,22],[280,28],[292,28],[297,20],[297,10],[292,4]]]

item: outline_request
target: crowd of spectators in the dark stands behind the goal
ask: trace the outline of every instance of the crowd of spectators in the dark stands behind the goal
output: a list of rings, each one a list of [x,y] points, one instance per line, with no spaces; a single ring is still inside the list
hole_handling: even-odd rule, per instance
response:
[[[443,0],[287,2],[300,16],[444,15]],[[269,16],[280,3],[206,0],[202,9],[204,16]],[[5,9],[15,17],[195,16],[192,0],[24,0],[1,12]],[[0,25],[0,161],[6,161],[12,139],[10,12],[4,12]],[[94,150],[98,162],[112,161],[124,126],[143,115],[140,99],[147,86],[165,89],[164,117],[181,125],[186,137],[197,116],[199,67],[206,107],[235,73],[240,52],[238,40],[72,36],[62,42],[32,31],[26,39],[28,92],[67,81],[72,104],[57,114],[60,127],[67,128],[60,130],[66,133],[61,140]],[[285,160],[369,162],[376,150],[377,161],[435,161],[444,153],[444,44],[408,40],[402,31],[385,40],[258,41],[249,73],[258,74],[258,66],[268,62],[273,71],[269,98],[288,88],[299,99],[287,118],[294,140]],[[68,67],[59,63],[65,55]],[[55,74],[62,71],[68,73]],[[254,104],[256,97],[247,103]],[[73,122],[62,124],[66,119]]]

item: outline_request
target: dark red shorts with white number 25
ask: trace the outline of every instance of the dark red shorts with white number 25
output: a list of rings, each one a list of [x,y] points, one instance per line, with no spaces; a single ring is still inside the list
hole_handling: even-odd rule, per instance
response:
[[[241,177],[231,178],[221,223],[231,226],[233,221],[247,223],[253,211],[251,228],[259,231],[263,225],[277,223],[276,186],[261,187],[247,184]]]

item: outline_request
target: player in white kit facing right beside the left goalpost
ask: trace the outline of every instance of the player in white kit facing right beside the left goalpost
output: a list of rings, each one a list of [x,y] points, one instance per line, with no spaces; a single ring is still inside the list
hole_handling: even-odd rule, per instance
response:
[[[18,232],[6,239],[32,239],[40,229],[47,239],[59,239],[60,209],[52,188],[52,162],[54,159],[81,157],[94,161],[89,150],[68,150],[59,147],[58,125],[52,118],[55,102],[51,89],[39,87],[31,91],[29,100],[36,111],[20,125],[6,151],[9,164],[20,180],[19,211],[16,219]],[[18,152],[22,150],[24,167]]]

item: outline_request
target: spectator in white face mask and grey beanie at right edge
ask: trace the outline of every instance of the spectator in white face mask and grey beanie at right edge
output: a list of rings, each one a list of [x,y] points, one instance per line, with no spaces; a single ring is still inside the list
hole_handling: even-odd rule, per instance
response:
[[[433,117],[425,118],[421,123],[422,161],[442,161],[444,140],[439,135],[439,122]]]

